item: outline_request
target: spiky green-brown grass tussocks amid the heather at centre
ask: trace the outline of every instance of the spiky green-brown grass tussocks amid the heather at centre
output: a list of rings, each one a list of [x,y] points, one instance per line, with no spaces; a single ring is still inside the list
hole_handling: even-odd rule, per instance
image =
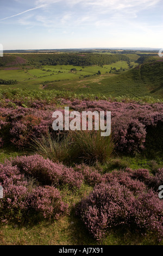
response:
[[[67,136],[53,138],[41,136],[34,138],[32,145],[35,153],[51,159],[54,162],[106,162],[112,151],[114,143],[110,136],[102,137],[101,131],[71,131]]]

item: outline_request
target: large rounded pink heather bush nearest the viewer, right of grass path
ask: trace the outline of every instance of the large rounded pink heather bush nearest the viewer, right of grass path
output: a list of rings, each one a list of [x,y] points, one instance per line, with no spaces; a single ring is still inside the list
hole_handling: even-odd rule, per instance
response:
[[[83,199],[77,209],[87,229],[97,240],[102,239],[108,228],[129,221],[135,198],[128,188],[114,184],[100,184]]]

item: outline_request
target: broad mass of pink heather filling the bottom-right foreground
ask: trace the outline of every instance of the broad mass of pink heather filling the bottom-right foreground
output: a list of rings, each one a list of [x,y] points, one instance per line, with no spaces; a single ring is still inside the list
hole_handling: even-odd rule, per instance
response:
[[[89,169],[85,171],[84,166],[78,168],[86,179],[91,178]],[[82,199],[77,215],[97,240],[111,228],[122,225],[142,234],[151,232],[161,240],[163,201],[157,191],[163,184],[162,177],[163,169],[158,169],[155,175],[147,169],[129,168],[101,175],[99,180],[102,183],[98,180],[93,192]]]

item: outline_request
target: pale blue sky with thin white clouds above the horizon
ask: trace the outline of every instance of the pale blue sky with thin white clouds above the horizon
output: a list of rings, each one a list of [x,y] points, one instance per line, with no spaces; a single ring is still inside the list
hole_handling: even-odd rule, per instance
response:
[[[163,47],[163,0],[0,0],[4,50]]]

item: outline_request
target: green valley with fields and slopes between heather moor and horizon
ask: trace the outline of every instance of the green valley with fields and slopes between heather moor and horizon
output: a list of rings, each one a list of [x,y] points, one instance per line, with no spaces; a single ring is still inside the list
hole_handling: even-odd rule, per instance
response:
[[[156,99],[162,99],[162,62],[158,61],[161,59],[158,59],[157,56],[150,57],[147,54],[142,54],[143,56],[140,57],[137,54],[126,54],[126,56],[122,56],[123,58],[121,57],[122,59],[126,58],[126,60],[116,61],[120,57],[115,57],[116,54],[113,54],[111,58],[114,57],[115,59],[103,58],[101,62],[114,61],[111,64],[91,65],[90,63],[90,65],[84,65],[88,63],[86,58],[86,60],[81,59],[80,62],[83,65],[78,66],[76,54],[73,54],[70,60],[67,60],[70,57],[66,57],[66,54],[59,54],[63,57],[57,57],[55,65],[42,65],[46,62],[54,62],[52,54],[50,54],[51,58],[47,58],[47,56],[43,58],[42,55],[45,56],[45,54],[39,56],[36,54],[29,54],[29,56],[28,54],[19,54],[21,57],[18,57],[17,62],[11,61],[8,55],[5,56],[4,64],[2,63],[4,66],[0,69],[1,79],[12,79],[16,80],[17,83],[8,86],[2,84],[1,88],[58,89],[70,90],[77,94],[100,93],[114,97],[124,95],[130,97],[152,96]],[[54,54],[54,56],[57,55]],[[80,58],[85,58],[81,55]],[[96,53],[97,58],[91,57],[91,62],[98,62],[99,55]],[[35,60],[34,56],[36,56]],[[17,57],[15,56],[15,58]],[[72,62],[75,65],[57,65],[57,62]],[[14,66],[10,66],[10,64],[14,64]]]

